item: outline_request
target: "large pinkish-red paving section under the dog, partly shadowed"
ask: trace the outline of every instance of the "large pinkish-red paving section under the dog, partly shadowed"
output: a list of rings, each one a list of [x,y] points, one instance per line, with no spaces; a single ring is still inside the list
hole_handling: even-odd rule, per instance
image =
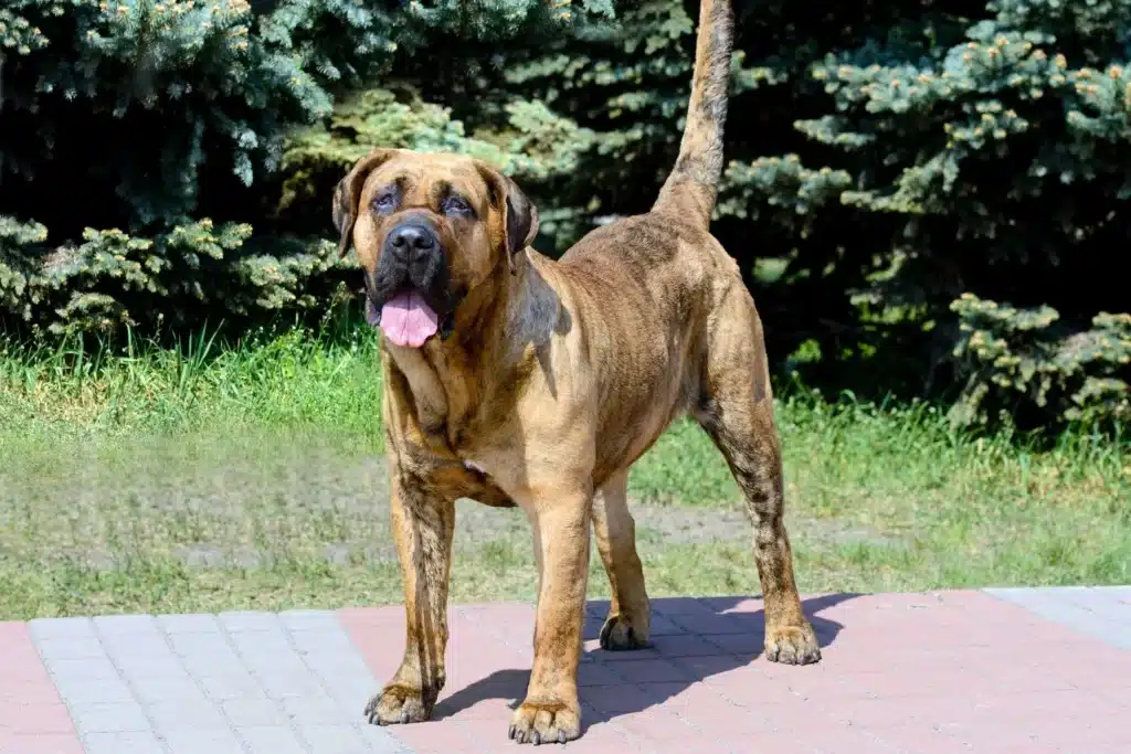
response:
[[[815,666],[760,657],[762,604],[655,599],[654,648],[605,652],[607,604],[587,608],[582,737],[568,749],[788,754],[1131,752],[1131,651],[981,591],[808,599]],[[338,613],[379,682],[404,648],[402,607]],[[516,751],[534,608],[454,608],[448,685],[416,752]]]

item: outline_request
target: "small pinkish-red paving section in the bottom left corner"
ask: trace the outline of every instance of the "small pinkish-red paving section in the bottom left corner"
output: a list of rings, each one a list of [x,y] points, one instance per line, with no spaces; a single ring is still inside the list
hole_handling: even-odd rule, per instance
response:
[[[26,623],[0,623],[0,754],[81,754]]]

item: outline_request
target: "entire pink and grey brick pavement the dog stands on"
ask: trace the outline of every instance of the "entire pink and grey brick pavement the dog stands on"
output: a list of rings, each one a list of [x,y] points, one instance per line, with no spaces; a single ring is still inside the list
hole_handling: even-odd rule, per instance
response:
[[[758,599],[656,599],[637,652],[587,609],[578,754],[1131,752],[1131,587],[814,596],[808,667],[758,657]],[[452,608],[434,720],[378,728],[400,607],[0,623],[0,754],[515,751],[533,624]]]

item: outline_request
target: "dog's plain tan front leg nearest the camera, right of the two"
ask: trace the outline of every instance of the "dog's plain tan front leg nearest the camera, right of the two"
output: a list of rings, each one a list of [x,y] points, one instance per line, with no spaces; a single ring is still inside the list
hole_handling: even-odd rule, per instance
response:
[[[589,494],[534,501],[530,518],[537,527],[541,588],[530,683],[510,725],[510,737],[519,743],[564,744],[581,735],[577,666],[589,575],[590,505]]]

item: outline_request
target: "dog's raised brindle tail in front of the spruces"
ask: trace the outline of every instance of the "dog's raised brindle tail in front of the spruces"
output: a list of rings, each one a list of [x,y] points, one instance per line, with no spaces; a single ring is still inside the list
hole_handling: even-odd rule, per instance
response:
[[[710,225],[723,174],[723,127],[733,44],[734,11],[729,0],[700,0],[696,69],[680,156],[651,209],[694,218],[703,228]]]

